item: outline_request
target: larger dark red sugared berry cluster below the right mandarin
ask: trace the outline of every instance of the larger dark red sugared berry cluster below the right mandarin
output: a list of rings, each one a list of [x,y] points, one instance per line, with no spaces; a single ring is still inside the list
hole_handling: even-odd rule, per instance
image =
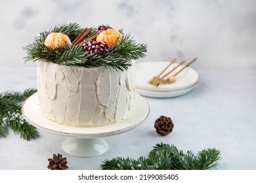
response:
[[[82,48],[90,54],[104,54],[108,52],[108,43],[88,41],[83,43]]]

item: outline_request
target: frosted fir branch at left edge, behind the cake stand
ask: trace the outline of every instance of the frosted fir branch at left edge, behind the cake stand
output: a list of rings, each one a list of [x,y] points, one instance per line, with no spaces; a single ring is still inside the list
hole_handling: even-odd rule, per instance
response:
[[[27,141],[39,136],[37,129],[26,122],[21,112],[22,103],[35,92],[37,90],[27,89],[24,92],[0,93],[0,137],[7,137],[9,128]]]

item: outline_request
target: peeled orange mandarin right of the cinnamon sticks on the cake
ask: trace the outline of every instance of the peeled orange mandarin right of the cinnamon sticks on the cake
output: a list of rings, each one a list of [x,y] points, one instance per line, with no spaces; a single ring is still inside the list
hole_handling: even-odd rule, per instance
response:
[[[121,38],[121,33],[114,29],[108,28],[97,35],[96,42],[108,42],[108,46],[115,44],[117,37]]]

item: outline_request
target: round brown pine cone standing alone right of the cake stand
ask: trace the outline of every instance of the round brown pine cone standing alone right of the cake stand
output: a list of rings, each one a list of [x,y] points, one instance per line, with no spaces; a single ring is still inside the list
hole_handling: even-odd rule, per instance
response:
[[[160,135],[167,135],[173,131],[173,121],[171,118],[166,116],[160,116],[155,122],[154,127],[156,128],[156,132]]]

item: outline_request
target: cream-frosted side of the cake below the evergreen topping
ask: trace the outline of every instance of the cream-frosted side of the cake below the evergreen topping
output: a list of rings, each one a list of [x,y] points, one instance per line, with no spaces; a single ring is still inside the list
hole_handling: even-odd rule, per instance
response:
[[[39,107],[64,125],[94,127],[127,118],[135,97],[133,66],[127,71],[37,62]]]

